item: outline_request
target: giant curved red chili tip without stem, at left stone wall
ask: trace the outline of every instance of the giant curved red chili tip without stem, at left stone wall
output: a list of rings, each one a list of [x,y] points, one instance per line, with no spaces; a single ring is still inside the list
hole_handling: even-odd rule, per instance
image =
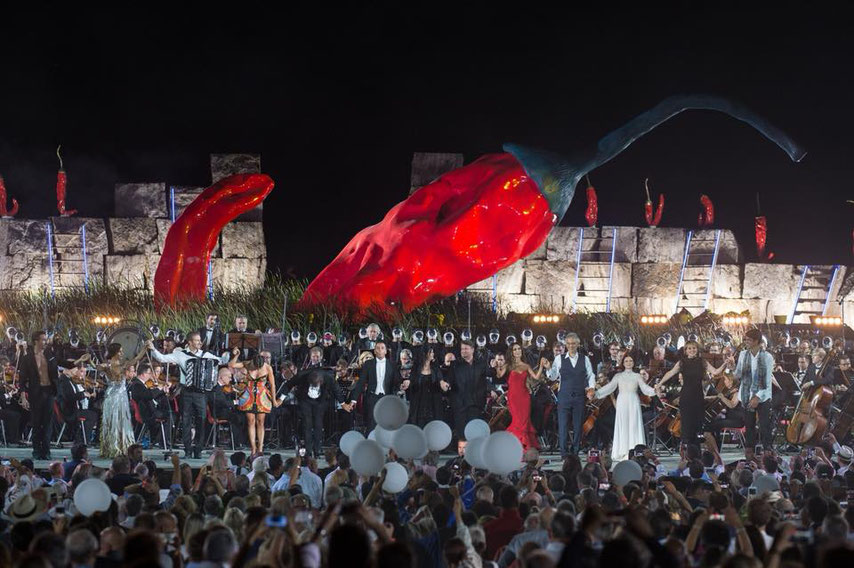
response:
[[[205,299],[208,262],[222,228],[261,203],[273,189],[264,174],[237,174],[204,190],[184,209],[163,245],[154,274],[157,307]]]

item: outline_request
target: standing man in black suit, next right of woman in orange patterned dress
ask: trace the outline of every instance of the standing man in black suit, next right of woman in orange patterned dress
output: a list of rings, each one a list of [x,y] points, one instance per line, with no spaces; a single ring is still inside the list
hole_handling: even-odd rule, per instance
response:
[[[323,416],[333,401],[344,403],[346,393],[338,386],[335,371],[321,366],[323,349],[312,347],[309,357],[308,368],[289,380],[285,388],[295,389],[306,452],[319,458],[323,452]],[[347,412],[353,409],[352,403],[342,406]]]

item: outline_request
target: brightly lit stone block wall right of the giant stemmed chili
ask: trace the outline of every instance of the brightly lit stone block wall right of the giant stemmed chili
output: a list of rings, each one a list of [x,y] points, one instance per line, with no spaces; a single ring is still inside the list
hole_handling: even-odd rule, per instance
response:
[[[617,228],[611,282],[612,311],[673,313],[687,233],[687,229]],[[502,312],[570,312],[573,309],[580,235],[578,227],[555,227],[537,251],[501,270],[495,278],[495,293]],[[714,237],[714,231],[695,231],[692,238],[699,243],[695,243],[693,250],[712,252]],[[607,297],[607,291],[603,289],[607,289],[608,284],[612,238],[611,227],[584,228],[581,272],[578,275],[578,288],[583,293],[578,296],[576,309],[603,311]],[[593,250],[602,248],[609,253],[592,254]],[[722,231],[709,309],[715,313],[748,311],[754,322],[771,323],[775,316],[788,315],[804,267],[743,263],[742,258],[735,235],[731,231]],[[705,281],[691,282],[695,278],[707,278],[708,269],[702,265],[704,262],[708,262],[708,257],[689,257],[684,293],[705,294]],[[491,298],[493,279],[472,284],[469,290]],[[803,296],[809,297],[807,294]],[[807,304],[810,306],[820,308],[823,302]],[[696,315],[700,310],[689,311]],[[827,314],[841,315],[846,323],[854,325],[854,270],[840,267],[831,290]],[[795,321],[806,323],[806,316],[799,316]]]

